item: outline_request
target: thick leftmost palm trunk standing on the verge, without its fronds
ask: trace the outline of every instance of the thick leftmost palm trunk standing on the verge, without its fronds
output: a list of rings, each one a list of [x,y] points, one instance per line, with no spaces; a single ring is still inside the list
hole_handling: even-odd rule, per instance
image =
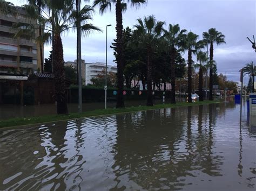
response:
[[[63,60],[63,46],[60,34],[55,33],[53,40],[53,73],[55,75],[55,97],[57,101],[57,114],[68,114],[66,105],[65,72]]]

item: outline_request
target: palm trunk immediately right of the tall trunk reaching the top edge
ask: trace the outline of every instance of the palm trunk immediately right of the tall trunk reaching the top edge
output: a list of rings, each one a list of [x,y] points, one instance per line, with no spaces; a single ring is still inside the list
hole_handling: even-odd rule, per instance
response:
[[[153,106],[152,96],[152,47],[147,45],[147,106]]]

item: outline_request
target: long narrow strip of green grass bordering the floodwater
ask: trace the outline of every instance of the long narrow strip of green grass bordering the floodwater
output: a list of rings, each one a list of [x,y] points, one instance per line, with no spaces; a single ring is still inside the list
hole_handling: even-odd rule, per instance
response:
[[[0,128],[15,127],[15,126],[21,126],[21,125],[35,125],[35,124],[40,124],[40,123],[65,121],[65,120],[84,118],[84,117],[103,116],[103,115],[111,115],[111,114],[123,114],[123,113],[127,113],[127,112],[154,110],[154,109],[161,109],[161,108],[178,108],[178,107],[219,103],[219,102],[221,102],[221,101],[203,101],[203,102],[194,102],[194,103],[180,102],[180,103],[176,103],[176,104],[157,104],[157,105],[154,105],[153,107],[138,106],[138,107],[118,108],[118,109],[113,109],[113,108],[110,109],[109,108],[106,110],[105,109],[97,109],[94,111],[86,111],[86,112],[82,112],[82,113],[72,113],[69,115],[45,115],[45,116],[39,116],[39,117],[10,118],[10,119],[6,119],[6,120],[1,120]]]

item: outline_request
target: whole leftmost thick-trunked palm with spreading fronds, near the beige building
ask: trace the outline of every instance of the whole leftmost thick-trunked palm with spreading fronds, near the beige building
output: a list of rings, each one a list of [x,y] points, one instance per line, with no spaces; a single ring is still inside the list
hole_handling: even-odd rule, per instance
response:
[[[76,10],[73,9],[73,2],[71,0],[55,0],[45,3],[46,9],[43,14],[38,15],[37,7],[33,4],[24,5],[28,16],[32,19],[37,19],[39,25],[44,25],[45,32],[39,37],[39,40],[50,41],[53,37],[52,54],[53,54],[53,73],[55,75],[55,95],[57,101],[57,114],[68,114],[65,96],[65,73],[63,60],[63,45],[61,34],[67,32],[69,29],[76,28]],[[83,12],[84,10],[84,12]],[[92,8],[88,5],[81,10],[81,22],[85,23],[81,29],[90,32],[94,29],[92,24],[87,23],[91,20]],[[32,27],[30,25],[29,27]],[[32,29],[31,29],[32,30]],[[30,31],[31,31],[30,30]]]

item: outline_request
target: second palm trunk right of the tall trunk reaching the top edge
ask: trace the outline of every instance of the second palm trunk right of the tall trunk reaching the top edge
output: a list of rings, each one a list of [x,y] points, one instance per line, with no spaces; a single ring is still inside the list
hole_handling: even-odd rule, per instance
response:
[[[171,48],[170,51],[170,56],[171,56],[171,85],[172,85],[172,90],[171,90],[171,103],[176,103],[175,100],[175,57],[176,57],[176,49]]]

